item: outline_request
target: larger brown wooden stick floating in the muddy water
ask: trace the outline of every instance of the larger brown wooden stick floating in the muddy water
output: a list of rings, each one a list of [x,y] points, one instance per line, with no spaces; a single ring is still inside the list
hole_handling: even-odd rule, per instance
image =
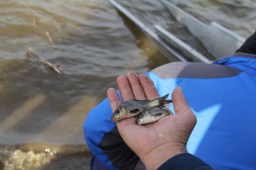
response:
[[[55,64],[50,63],[49,61],[45,60],[43,57],[38,56],[36,53],[33,52],[33,50],[31,48],[28,48],[29,51],[25,51],[25,53],[27,54],[28,57],[32,57],[35,60],[46,64],[47,66],[49,66],[50,68],[54,69],[57,73],[62,74],[63,69],[58,67]]]

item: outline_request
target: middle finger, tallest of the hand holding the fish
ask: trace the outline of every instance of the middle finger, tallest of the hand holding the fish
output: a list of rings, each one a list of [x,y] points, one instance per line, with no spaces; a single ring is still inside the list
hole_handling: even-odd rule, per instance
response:
[[[132,89],[134,98],[137,100],[146,100],[146,96],[144,94],[142,86],[140,85],[140,81],[137,74],[135,72],[128,72],[127,79]]]

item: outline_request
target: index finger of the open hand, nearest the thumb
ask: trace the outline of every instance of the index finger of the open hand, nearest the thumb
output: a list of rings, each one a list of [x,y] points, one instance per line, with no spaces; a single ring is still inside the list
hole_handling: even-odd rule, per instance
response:
[[[160,97],[153,81],[146,74],[140,74],[139,80],[148,100]]]

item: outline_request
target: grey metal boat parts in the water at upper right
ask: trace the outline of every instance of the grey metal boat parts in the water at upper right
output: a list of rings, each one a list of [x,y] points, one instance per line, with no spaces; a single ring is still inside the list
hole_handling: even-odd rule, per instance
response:
[[[142,30],[156,49],[158,49],[168,60],[204,63],[212,62],[209,58],[202,55],[196,49],[193,49],[160,25],[155,24],[153,30],[115,0],[108,1]],[[187,29],[203,43],[207,51],[216,59],[233,54],[245,41],[245,38],[223,27],[217,22],[211,22],[208,25],[186,11],[183,11],[168,0],[159,1],[168,8],[178,22],[184,24]]]

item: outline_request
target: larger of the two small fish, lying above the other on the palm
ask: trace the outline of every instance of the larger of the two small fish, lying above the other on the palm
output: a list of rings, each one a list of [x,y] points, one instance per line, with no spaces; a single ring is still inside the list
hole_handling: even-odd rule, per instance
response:
[[[148,110],[151,107],[171,103],[172,100],[165,100],[168,96],[169,94],[150,101],[135,99],[127,100],[117,107],[110,120],[116,122],[118,120],[134,117],[139,115],[140,112]]]

